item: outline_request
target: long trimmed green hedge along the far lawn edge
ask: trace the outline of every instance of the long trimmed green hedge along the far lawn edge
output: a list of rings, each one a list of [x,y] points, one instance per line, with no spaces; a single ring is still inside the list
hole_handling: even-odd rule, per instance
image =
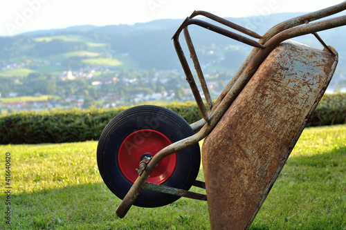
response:
[[[172,102],[166,108],[189,124],[201,119],[194,102]],[[112,117],[129,107],[74,109],[71,111],[21,112],[0,116],[0,144],[36,144],[98,140]],[[307,126],[346,123],[346,93],[325,95]]]

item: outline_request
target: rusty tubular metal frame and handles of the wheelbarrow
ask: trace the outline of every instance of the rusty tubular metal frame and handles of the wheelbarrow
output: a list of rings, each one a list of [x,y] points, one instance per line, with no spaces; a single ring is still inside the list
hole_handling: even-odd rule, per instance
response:
[[[341,12],[343,10],[346,10],[346,1],[336,6],[331,6],[323,10],[311,12],[309,14],[302,15],[300,17],[295,17],[293,19],[289,19],[282,23],[279,23],[273,28],[271,28],[270,30],[268,30],[262,37],[260,35],[257,35],[257,33],[251,30],[247,30],[246,28],[243,28],[242,26],[238,26],[237,24],[227,21],[226,19],[222,19],[221,17],[217,17],[216,15],[212,15],[204,11],[195,11],[192,13],[190,17],[185,19],[185,21],[183,21],[182,25],[176,31],[172,39],[174,41],[174,47],[176,48],[176,53],[179,57],[179,60],[181,61],[181,65],[183,66],[183,70],[187,77],[188,83],[190,84],[190,87],[192,89],[194,98],[196,99],[196,102],[199,106],[199,110],[201,111],[201,115],[203,119],[199,120],[198,122],[194,122],[193,124],[190,125],[194,129],[194,131],[195,132],[198,131],[198,133],[190,137],[187,137],[184,140],[180,140],[179,142],[175,142],[174,144],[170,144],[170,146],[163,148],[161,151],[156,153],[154,157],[152,157],[152,159],[146,164],[144,169],[141,170],[141,173],[140,175],[138,175],[137,180],[131,186],[131,189],[128,191],[127,195],[120,203],[118,209],[116,210],[116,215],[118,215],[120,218],[123,218],[126,215],[127,211],[130,209],[131,205],[136,200],[140,190],[143,188],[149,188],[149,189],[161,191],[161,192],[165,191],[167,193],[171,193],[174,195],[183,195],[183,196],[190,196],[190,197],[192,196],[193,198],[202,198],[202,200],[204,200],[205,198],[201,194],[200,196],[200,195],[196,195],[196,193],[191,194],[188,191],[181,191],[181,189],[169,188],[167,186],[162,186],[162,185],[159,186],[157,184],[156,185],[149,184],[145,182],[145,180],[149,178],[150,173],[152,173],[152,171],[154,170],[158,162],[163,160],[164,157],[172,153],[181,151],[183,148],[188,148],[192,146],[193,144],[196,144],[197,142],[202,140],[204,137],[206,137],[206,135],[208,135],[212,131],[213,128],[215,128],[215,126],[217,125],[221,117],[224,115],[224,113],[233,103],[237,95],[239,95],[239,93],[242,91],[242,89],[244,88],[248,80],[251,79],[251,77],[257,70],[257,68],[260,66],[260,64],[262,64],[262,61],[266,59],[269,53],[278,44],[280,44],[282,41],[285,41],[287,39],[291,39],[293,37],[299,37],[302,35],[307,35],[310,33],[317,36],[319,41],[322,41],[322,39],[319,38],[316,32],[321,30],[336,28],[338,26],[345,26],[346,15],[341,17],[336,17],[334,19],[326,19],[323,21],[318,21],[313,23],[309,23],[309,22],[315,21],[317,19],[321,19],[323,17],[327,17],[329,15],[334,15],[337,12]],[[243,32],[246,35],[249,35],[251,37],[254,37],[260,40],[258,42],[253,41],[252,39],[248,39],[247,37],[244,37],[242,35],[237,35],[235,32],[231,32],[219,26],[215,26],[211,23],[207,23],[206,21],[193,19],[193,17],[197,15],[203,15],[205,17],[208,17],[209,19],[212,19],[213,21],[222,23],[225,26],[228,26],[230,28],[238,30],[239,32]],[[192,44],[192,40],[188,32],[187,27],[192,24],[201,26],[208,30],[212,30],[221,35],[230,37],[232,39],[235,39],[237,41],[243,42],[245,44],[248,44],[254,47],[251,53],[248,55],[248,57],[246,57],[242,66],[239,67],[239,69],[237,70],[237,73],[235,73],[233,78],[230,80],[226,88],[219,95],[219,97],[217,98],[214,104],[212,104],[212,99],[208,92],[208,86],[206,85],[206,81],[203,77],[201,66],[199,65],[199,61],[197,59],[194,46]],[[207,109],[203,104],[203,100],[201,99],[201,95],[199,93],[199,90],[197,89],[197,84],[194,82],[194,78],[192,76],[190,67],[188,66],[188,62],[185,59],[185,55],[179,43],[179,35],[181,34],[181,31],[184,31],[185,40],[188,44],[192,61],[194,62],[194,66],[197,70],[197,75],[199,77],[199,81],[201,83],[203,93],[206,97],[206,100],[210,109],[209,112],[207,112]],[[325,46],[325,48],[329,52],[334,54],[328,48],[328,46],[325,45],[323,41],[321,43],[323,46]],[[203,182],[197,182],[196,185],[197,186],[199,185],[201,187],[204,186],[205,188],[205,185],[203,185]]]

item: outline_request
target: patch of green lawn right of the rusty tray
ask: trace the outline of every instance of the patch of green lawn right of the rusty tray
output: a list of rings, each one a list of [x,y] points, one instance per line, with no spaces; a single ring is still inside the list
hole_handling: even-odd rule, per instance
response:
[[[253,229],[346,229],[346,125],[307,128]]]

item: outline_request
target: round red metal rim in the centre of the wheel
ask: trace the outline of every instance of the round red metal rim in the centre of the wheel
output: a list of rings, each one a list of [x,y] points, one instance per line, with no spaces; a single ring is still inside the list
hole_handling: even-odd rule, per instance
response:
[[[162,133],[151,129],[143,129],[128,135],[121,143],[118,153],[118,164],[122,174],[134,183],[138,178],[140,157],[149,153],[154,156],[158,151],[172,142]],[[166,182],[176,167],[176,153],[163,158],[158,166],[150,173],[147,182],[162,184]]]

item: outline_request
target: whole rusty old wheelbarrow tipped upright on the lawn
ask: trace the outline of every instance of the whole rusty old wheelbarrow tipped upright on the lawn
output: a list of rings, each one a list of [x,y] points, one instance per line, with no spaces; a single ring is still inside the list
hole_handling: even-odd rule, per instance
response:
[[[208,198],[212,229],[248,229],[338,62],[336,50],[317,32],[345,26],[346,15],[311,21],[345,9],[346,1],[279,23],[262,36],[209,12],[195,11],[185,19],[172,39],[203,118],[189,125],[159,106],[136,106],[113,117],[100,136],[97,157],[104,183],[122,199],[116,215],[123,218],[131,205],[161,207],[180,197]],[[194,19],[197,15],[248,36]],[[215,102],[190,25],[254,47]],[[181,48],[181,32],[208,108]],[[322,50],[288,41],[309,34],[320,41]],[[204,138],[201,154],[198,143]],[[201,155],[205,182],[196,180]],[[206,195],[188,191],[191,186],[206,189]]]

